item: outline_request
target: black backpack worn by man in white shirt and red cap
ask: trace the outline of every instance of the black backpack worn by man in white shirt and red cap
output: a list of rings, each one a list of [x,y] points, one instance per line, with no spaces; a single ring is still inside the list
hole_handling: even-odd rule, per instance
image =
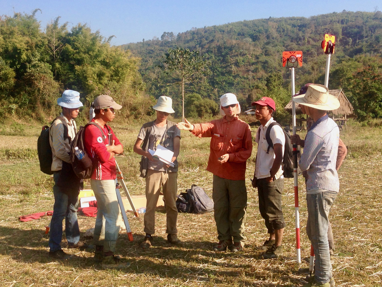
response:
[[[268,143],[268,150],[267,153],[269,153],[269,149],[273,148],[273,142],[272,139],[270,138],[270,129],[273,126],[280,126],[281,125],[277,122],[271,122],[267,128],[267,131],[265,132],[265,139],[267,140]],[[281,127],[282,128],[282,127]],[[284,147],[284,157],[283,157],[283,162],[282,162],[282,169],[283,169],[283,175],[285,178],[293,178],[293,146],[292,143],[290,142],[290,133],[287,133],[283,128],[282,128],[284,135],[285,135],[285,147]],[[299,158],[300,150],[298,147],[297,150],[297,157]],[[297,167],[297,174],[300,173],[299,167]]]

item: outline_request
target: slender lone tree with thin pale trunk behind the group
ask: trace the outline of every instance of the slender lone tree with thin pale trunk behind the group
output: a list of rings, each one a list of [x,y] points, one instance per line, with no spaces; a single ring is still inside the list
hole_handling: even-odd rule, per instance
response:
[[[208,73],[207,62],[199,51],[190,51],[176,47],[175,49],[168,49],[165,57],[162,57],[160,67],[167,73],[173,76],[173,82],[181,87],[182,92],[182,121],[185,119],[185,86],[192,85],[199,81],[204,74]]]

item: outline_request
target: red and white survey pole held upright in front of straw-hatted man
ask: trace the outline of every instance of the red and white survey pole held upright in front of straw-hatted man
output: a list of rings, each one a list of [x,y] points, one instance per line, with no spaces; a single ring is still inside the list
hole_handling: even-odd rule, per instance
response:
[[[291,72],[291,86],[292,86],[292,125],[293,134],[296,134],[296,104],[293,101],[293,96],[295,95],[295,68],[290,68]],[[295,185],[295,225],[296,225],[296,260],[297,263],[301,263],[301,253],[300,253],[300,213],[298,205],[298,174],[297,174],[297,144],[293,144],[293,178]]]

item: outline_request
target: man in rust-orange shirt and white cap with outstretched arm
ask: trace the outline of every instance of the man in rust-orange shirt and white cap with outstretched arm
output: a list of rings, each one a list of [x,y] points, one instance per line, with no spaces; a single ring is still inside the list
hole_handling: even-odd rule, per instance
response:
[[[220,97],[223,118],[204,124],[179,122],[176,126],[197,137],[211,137],[207,170],[214,174],[212,199],[219,243],[214,251],[242,251],[244,248],[247,189],[246,161],[252,153],[249,125],[240,120],[240,104],[231,93]],[[233,242],[232,242],[233,239]]]

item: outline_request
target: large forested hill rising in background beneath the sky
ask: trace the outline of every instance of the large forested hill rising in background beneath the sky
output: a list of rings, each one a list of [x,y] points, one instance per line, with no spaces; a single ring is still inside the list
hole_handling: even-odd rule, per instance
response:
[[[206,82],[188,88],[194,98],[217,100],[223,93],[238,95],[245,104],[274,92],[280,105],[287,101],[289,70],[282,67],[283,51],[303,51],[303,67],[296,69],[296,89],[304,83],[323,83],[326,56],[320,47],[324,34],[336,36],[329,88],[347,88],[348,81],[372,65],[381,74],[382,13],[330,13],[309,18],[268,18],[240,21],[219,26],[193,28],[159,39],[122,45],[141,58],[140,72],[152,96],[179,97],[179,87],[168,85],[173,79],[157,67],[169,48],[176,46],[200,50],[210,60],[211,74]],[[377,77],[378,78],[378,77]],[[382,86],[382,85],[381,85]],[[198,95],[195,95],[198,94]],[[355,95],[354,95],[355,96]],[[380,92],[382,97],[382,90]],[[353,99],[354,101],[354,99]],[[371,115],[378,116],[375,112]],[[379,116],[382,116],[380,114]]]

